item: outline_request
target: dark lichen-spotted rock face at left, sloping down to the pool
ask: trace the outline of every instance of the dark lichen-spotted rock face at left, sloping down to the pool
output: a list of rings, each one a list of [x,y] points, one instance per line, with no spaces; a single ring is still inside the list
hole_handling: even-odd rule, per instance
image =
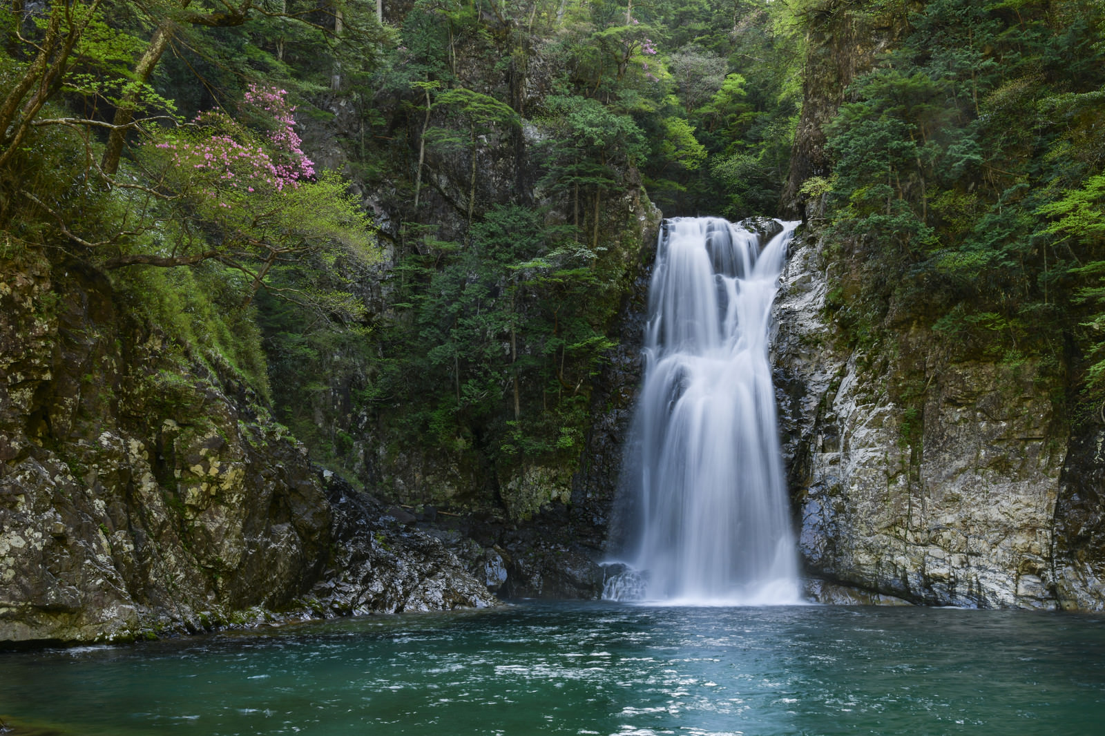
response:
[[[180,357],[115,299],[77,263],[3,264],[0,641],[492,602],[432,539],[381,528],[397,551],[357,553],[377,509],[332,505],[220,356]],[[340,585],[303,598],[324,570]]]

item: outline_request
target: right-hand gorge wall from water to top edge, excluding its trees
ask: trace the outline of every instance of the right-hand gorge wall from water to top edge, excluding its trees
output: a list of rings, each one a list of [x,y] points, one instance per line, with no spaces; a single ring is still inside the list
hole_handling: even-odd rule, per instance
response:
[[[813,177],[824,177],[823,189],[839,186],[830,180],[827,132],[842,105],[860,99],[849,85],[875,67],[880,53],[917,43],[909,35],[917,29],[956,28],[941,14],[950,7],[827,2],[810,11],[802,115],[783,194],[783,208],[803,213],[806,229],[783,275],[775,346],[800,551],[812,592],[830,601],[1098,611],[1105,420],[1081,393],[1084,338],[1067,324],[1054,327],[1059,349],[1027,347],[1039,337],[1031,335],[990,338],[989,346],[956,340],[934,327],[970,287],[938,291],[933,274],[941,266],[925,263],[924,251],[914,251],[901,273],[887,267],[886,254],[899,243],[834,230],[839,212],[831,208],[848,202],[803,188]],[[936,10],[926,17],[929,8]],[[916,59],[927,52],[937,53],[923,49]],[[916,73],[901,59],[894,65]],[[955,186],[969,191],[985,179],[968,178]],[[932,213],[925,194],[919,201],[924,221]],[[945,239],[956,236],[947,220],[935,222]],[[928,282],[916,275],[925,269]],[[886,274],[890,285],[872,283]],[[895,291],[895,280],[909,278],[922,285]],[[908,288],[927,288],[928,296]],[[1004,308],[994,306],[1001,295],[979,290],[974,298],[978,305],[958,308]],[[1046,305],[1046,291],[1041,301]]]

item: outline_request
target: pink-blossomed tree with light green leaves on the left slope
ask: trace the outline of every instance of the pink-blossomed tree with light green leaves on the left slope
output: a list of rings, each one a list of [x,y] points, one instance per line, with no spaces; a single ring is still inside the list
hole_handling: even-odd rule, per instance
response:
[[[348,181],[316,171],[303,153],[286,95],[251,85],[236,116],[207,111],[148,140],[138,165],[154,186],[119,196],[147,220],[175,224],[152,251],[148,240],[131,243],[105,265],[215,261],[249,277],[249,304],[262,286],[280,291],[271,278],[282,265],[376,260],[371,221]]]

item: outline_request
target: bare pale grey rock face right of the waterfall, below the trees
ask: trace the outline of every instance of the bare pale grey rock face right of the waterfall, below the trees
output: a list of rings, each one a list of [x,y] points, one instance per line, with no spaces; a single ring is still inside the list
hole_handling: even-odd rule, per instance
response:
[[[808,571],[917,603],[1101,610],[1101,433],[1067,459],[1031,361],[956,361],[917,325],[848,348],[821,246],[793,244],[774,356]]]

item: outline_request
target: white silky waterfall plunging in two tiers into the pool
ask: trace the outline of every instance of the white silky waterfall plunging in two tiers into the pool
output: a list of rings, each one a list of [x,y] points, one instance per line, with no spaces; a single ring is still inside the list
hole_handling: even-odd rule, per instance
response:
[[[622,471],[625,572],[604,598],[798,602],[768,362],[771,303],[797,222],[762,248],[717,218],[665,221],[645,372]]]

